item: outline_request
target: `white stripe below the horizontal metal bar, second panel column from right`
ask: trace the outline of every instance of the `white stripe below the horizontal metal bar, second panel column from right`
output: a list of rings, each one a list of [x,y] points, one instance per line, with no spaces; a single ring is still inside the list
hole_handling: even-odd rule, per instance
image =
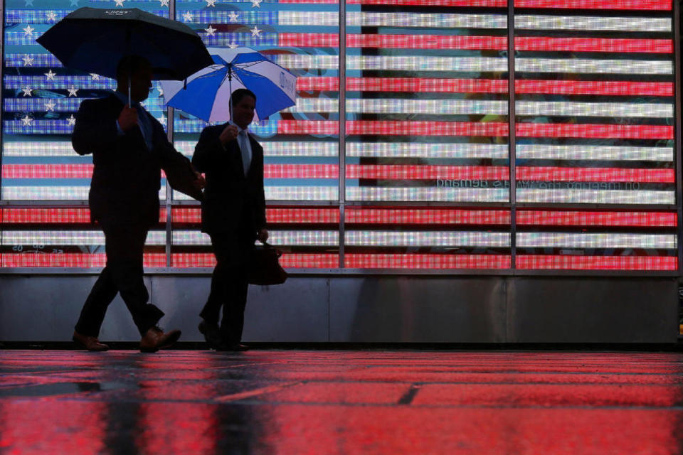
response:
[[[509,232],[346,231],[344,244],[377,247],[509,247]]]

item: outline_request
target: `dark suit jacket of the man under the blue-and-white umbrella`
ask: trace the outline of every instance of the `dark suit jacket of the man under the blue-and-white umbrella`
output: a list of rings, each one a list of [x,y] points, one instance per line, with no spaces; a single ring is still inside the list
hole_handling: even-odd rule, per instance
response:
[[[227,124],[206,127],[194,149],[192,164],[206,173],[206,188],[201,203],[201,228],[209,234],[237,235],[246,229],[253,233],[265,228],[263,192],[263,147],[248,135],[251,164],[244,175],[242,152],[237,139],[225,147],[218,136]]]

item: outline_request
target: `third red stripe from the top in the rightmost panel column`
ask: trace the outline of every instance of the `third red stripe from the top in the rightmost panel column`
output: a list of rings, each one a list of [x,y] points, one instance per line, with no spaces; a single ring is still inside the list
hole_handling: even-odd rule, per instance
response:
[[[515,80],[517,93],[554,95],[674,96],[672,82],[626,82],[597,80]]]

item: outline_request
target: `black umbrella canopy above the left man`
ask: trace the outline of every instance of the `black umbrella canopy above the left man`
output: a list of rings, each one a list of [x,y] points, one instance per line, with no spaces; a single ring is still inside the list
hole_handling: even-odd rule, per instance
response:
[[[68,68],[116,77],[125,55],[152,64],[152,77],[182,80],[211,65],[201,38],[188,26],[137,8],[79,8],[36,41]]]

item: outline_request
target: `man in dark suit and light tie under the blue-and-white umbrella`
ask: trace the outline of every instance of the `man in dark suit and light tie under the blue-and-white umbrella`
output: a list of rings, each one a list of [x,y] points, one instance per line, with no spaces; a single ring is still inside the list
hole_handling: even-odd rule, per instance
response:
[[[254,241],[268,240],[263,147],[247,132],[254,118],[256,95],[246,89],[235,90],[231,102],[233,120],[204,128],[192,156],[195,168],[206,173],[201,226],[211,237],[217,262],[199,331],[216,350],[247,349],[240,340],[248,262]],[[218,326],[221,306],[223,319]]]

